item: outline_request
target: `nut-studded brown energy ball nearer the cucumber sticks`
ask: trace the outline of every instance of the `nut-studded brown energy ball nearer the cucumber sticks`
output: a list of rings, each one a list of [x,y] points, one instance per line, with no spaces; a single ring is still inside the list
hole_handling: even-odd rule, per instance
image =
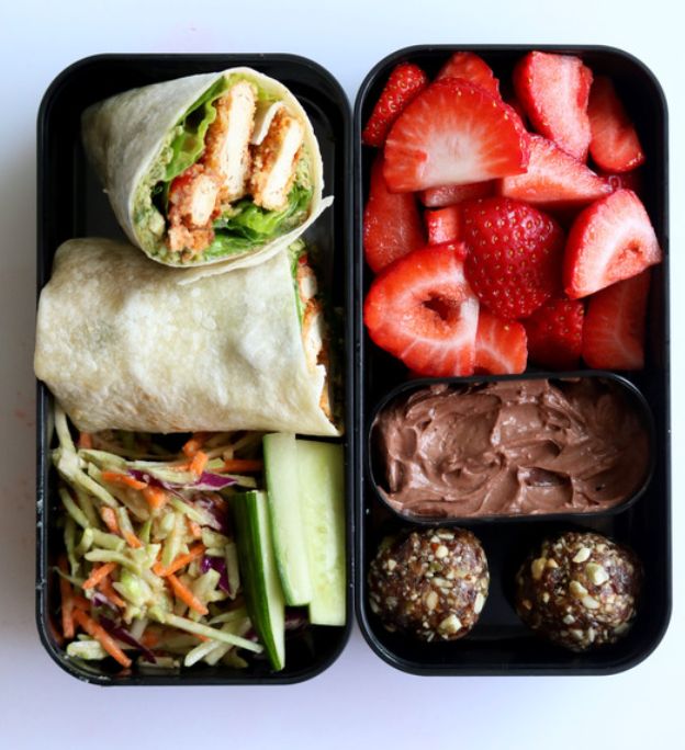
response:
[[[381,545],[369,570],[369,603],[389,630],[456,640],[478,622],[489,584],[487,559],[471,532],[427,529]]]

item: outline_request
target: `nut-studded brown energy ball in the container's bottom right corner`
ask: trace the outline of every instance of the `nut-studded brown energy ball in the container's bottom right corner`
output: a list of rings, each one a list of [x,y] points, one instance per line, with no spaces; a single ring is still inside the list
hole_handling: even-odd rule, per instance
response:
[[[542,543],[516,576],[516,610],[534,630],[573,651],[613,644],[630,629],[642,566],[600,534]]]

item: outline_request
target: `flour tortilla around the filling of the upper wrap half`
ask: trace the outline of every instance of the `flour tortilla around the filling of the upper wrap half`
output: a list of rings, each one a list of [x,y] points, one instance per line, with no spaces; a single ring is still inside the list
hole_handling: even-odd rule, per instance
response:
[[[244,253],[209,260],[194,257],[182,261],[178,253],[169,254],[164,237],[155,238],[142,230],[136,221],[136,211],[141,213],[138,192],[146,192],[145,184],[150,170],[168,147],[178,123],[222,76],[254,82],[260,92],[283,102],[287,110],[303,122],[304,148],[313,194],[306,219],[288,234]],[[291,245],[333,201],[332,197],[325,201],[322,197],[323,162],[306,112],[287,87],[251,68],[229,68],[222,72],[189,76],[125,91],[86,110],[81,132],[88,158],[103,184],[122,229],[133,245],[165,265],[215,265],[215,273],[255,265]],[[157,216],[164,220],[158,212]]]

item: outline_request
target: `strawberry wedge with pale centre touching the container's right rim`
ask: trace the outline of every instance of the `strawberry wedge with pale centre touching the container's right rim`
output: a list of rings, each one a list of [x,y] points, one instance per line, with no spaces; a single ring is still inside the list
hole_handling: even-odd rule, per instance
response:
[[[618,190],[584,208],[569,232],[563,283],[569,297],[586,297],[661,262],[654,228],[640,198]]]

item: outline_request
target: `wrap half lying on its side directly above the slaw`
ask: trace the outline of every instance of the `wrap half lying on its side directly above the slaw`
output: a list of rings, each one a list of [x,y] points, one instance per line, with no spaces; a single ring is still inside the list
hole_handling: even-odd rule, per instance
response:
[[[179,284],[131,246],[68,240],[41,293],[36,376],[86,432],[337,435],[305,260],[280,252]]]

